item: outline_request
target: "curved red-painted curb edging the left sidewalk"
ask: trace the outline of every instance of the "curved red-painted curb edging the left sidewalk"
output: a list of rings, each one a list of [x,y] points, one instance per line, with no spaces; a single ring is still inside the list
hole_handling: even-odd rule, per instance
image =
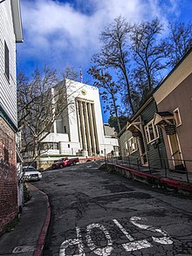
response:
[[[29,187],[31,187],[32,190],[38,190],[38,188],[30,183]],[[46,234],[50,225],[51,221],[51,206],[49,202],[49,197],[43,192],[42,190],[38,190],[40,193],[42,193],[46,199],[47,199],[47,211],[46,211],[46,218],[44,225],[41,229],[41,232],[38,237],[38,244],[36,246],[36,249],[33,253],[33,256],[41,256],[43,255],[44,247],[45,247],[45,239],[46,239]]]

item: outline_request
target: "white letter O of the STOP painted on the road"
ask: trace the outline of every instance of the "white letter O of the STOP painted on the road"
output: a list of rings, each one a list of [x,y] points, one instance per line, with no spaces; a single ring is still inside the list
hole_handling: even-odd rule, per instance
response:
[[[92,232],[93,228],[98,228],[99,230],[104,232],[104,234],[106,236],[106,240],[107,240],[106,247],[97,248],[97,246],[95,246],[95,244],[93,243],[93,239],[91,237],[91,232]],[[111,255],[111,253],[113,251],[113,247],[112,247],[113,243],[112,243],[111,236],[110,236],[109,232],[106,230],[104,225],[100,225],[99,223],[95,223],[95,224],[93,223],[93,224],[87,225],[86,231],[87,231],[87,235],[86,235],[87,245],[89,246],[91,251],[93,251],[93,253],[100,255],[100,256]]]

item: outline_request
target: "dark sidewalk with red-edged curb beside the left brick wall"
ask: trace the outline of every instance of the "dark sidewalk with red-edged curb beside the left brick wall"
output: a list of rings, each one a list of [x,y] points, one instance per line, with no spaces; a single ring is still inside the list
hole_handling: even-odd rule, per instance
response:
[[[0,256],[42,255],[51,217],[49,200],[31,183],[28,183],[28,189],[31,200],[24,204],[17,225],[0,237]]]

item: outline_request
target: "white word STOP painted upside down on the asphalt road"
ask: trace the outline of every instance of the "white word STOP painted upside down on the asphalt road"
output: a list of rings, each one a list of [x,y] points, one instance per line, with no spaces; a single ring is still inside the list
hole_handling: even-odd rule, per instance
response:
[[[140,223],[138,223],[139,220],[147,220],[147,218],[141,218],[141,217],[135,217],[135,216],[130,218],[130,222],[142,230],[161,233],[161,235],[162,235],[161,238],[152,236],[152,239],[154,240],[155,243],[158,243],[161,245],[173,244],[173,241],[172,241],[172,239],[170,239],[167,232],[162,231],[159,228],[154,228],[154,226],[152,226],[152,225],[140,224]],[[120,228],[120,231],[129,240],[129,242],[122,244],[123,248],[127,252],[141,250],[141,249],[149,248],[152,246],[146,239],[141,239],[141,240],[135,241],[135,239],[127,232],[127,230],[122,225],[120,225],[120,222],[117,219],[114,218],[113,223]],[[92,239],[93,229],[99,229],[101,232],[103,232],[105,234],[106,242],[107,242],[107,245],[105,247],[99,248],[98,246],[96,246],[94,244],[93,239]],[[60,249],[59,249],[59,256],[71,256],[69,254],[67,254],[67,255],[65,254],[65,250],[69,246],[78,246],[79,253],[73,254],[73,256],[86,256],[86,253],[84,253],[84,244],[83,244],[83,240],[82,240],[82,236],[81,236],[79,227],[76,227],[76,233],[77,233],[77,239],[68,239],[68,240],[65,240],[61,244]],[[95,235],[95,234],[93,233],[93,235]],[[99,256],[110,256],[113,251],[112,238],[111,238],[109,232],[106,230],[106,227],[99,223],[93,223],[93,224],[86,226],[86,241],[87,241],[87,246],[90,248],[90,250]]]

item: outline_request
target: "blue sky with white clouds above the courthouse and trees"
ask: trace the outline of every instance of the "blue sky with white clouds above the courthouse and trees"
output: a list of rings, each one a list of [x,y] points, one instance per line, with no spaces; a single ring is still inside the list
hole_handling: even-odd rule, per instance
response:
[[[20,0],[24,43],[17,45],[17,72],[30,74],[49,65],[62,73],[72,66],[83,82],[93,53],[99,52],[99,32],[115,17],[138,23],[159,17],[161,23],[191,20],[191,0]],[[103,119],[107,122],[107,114]]]

